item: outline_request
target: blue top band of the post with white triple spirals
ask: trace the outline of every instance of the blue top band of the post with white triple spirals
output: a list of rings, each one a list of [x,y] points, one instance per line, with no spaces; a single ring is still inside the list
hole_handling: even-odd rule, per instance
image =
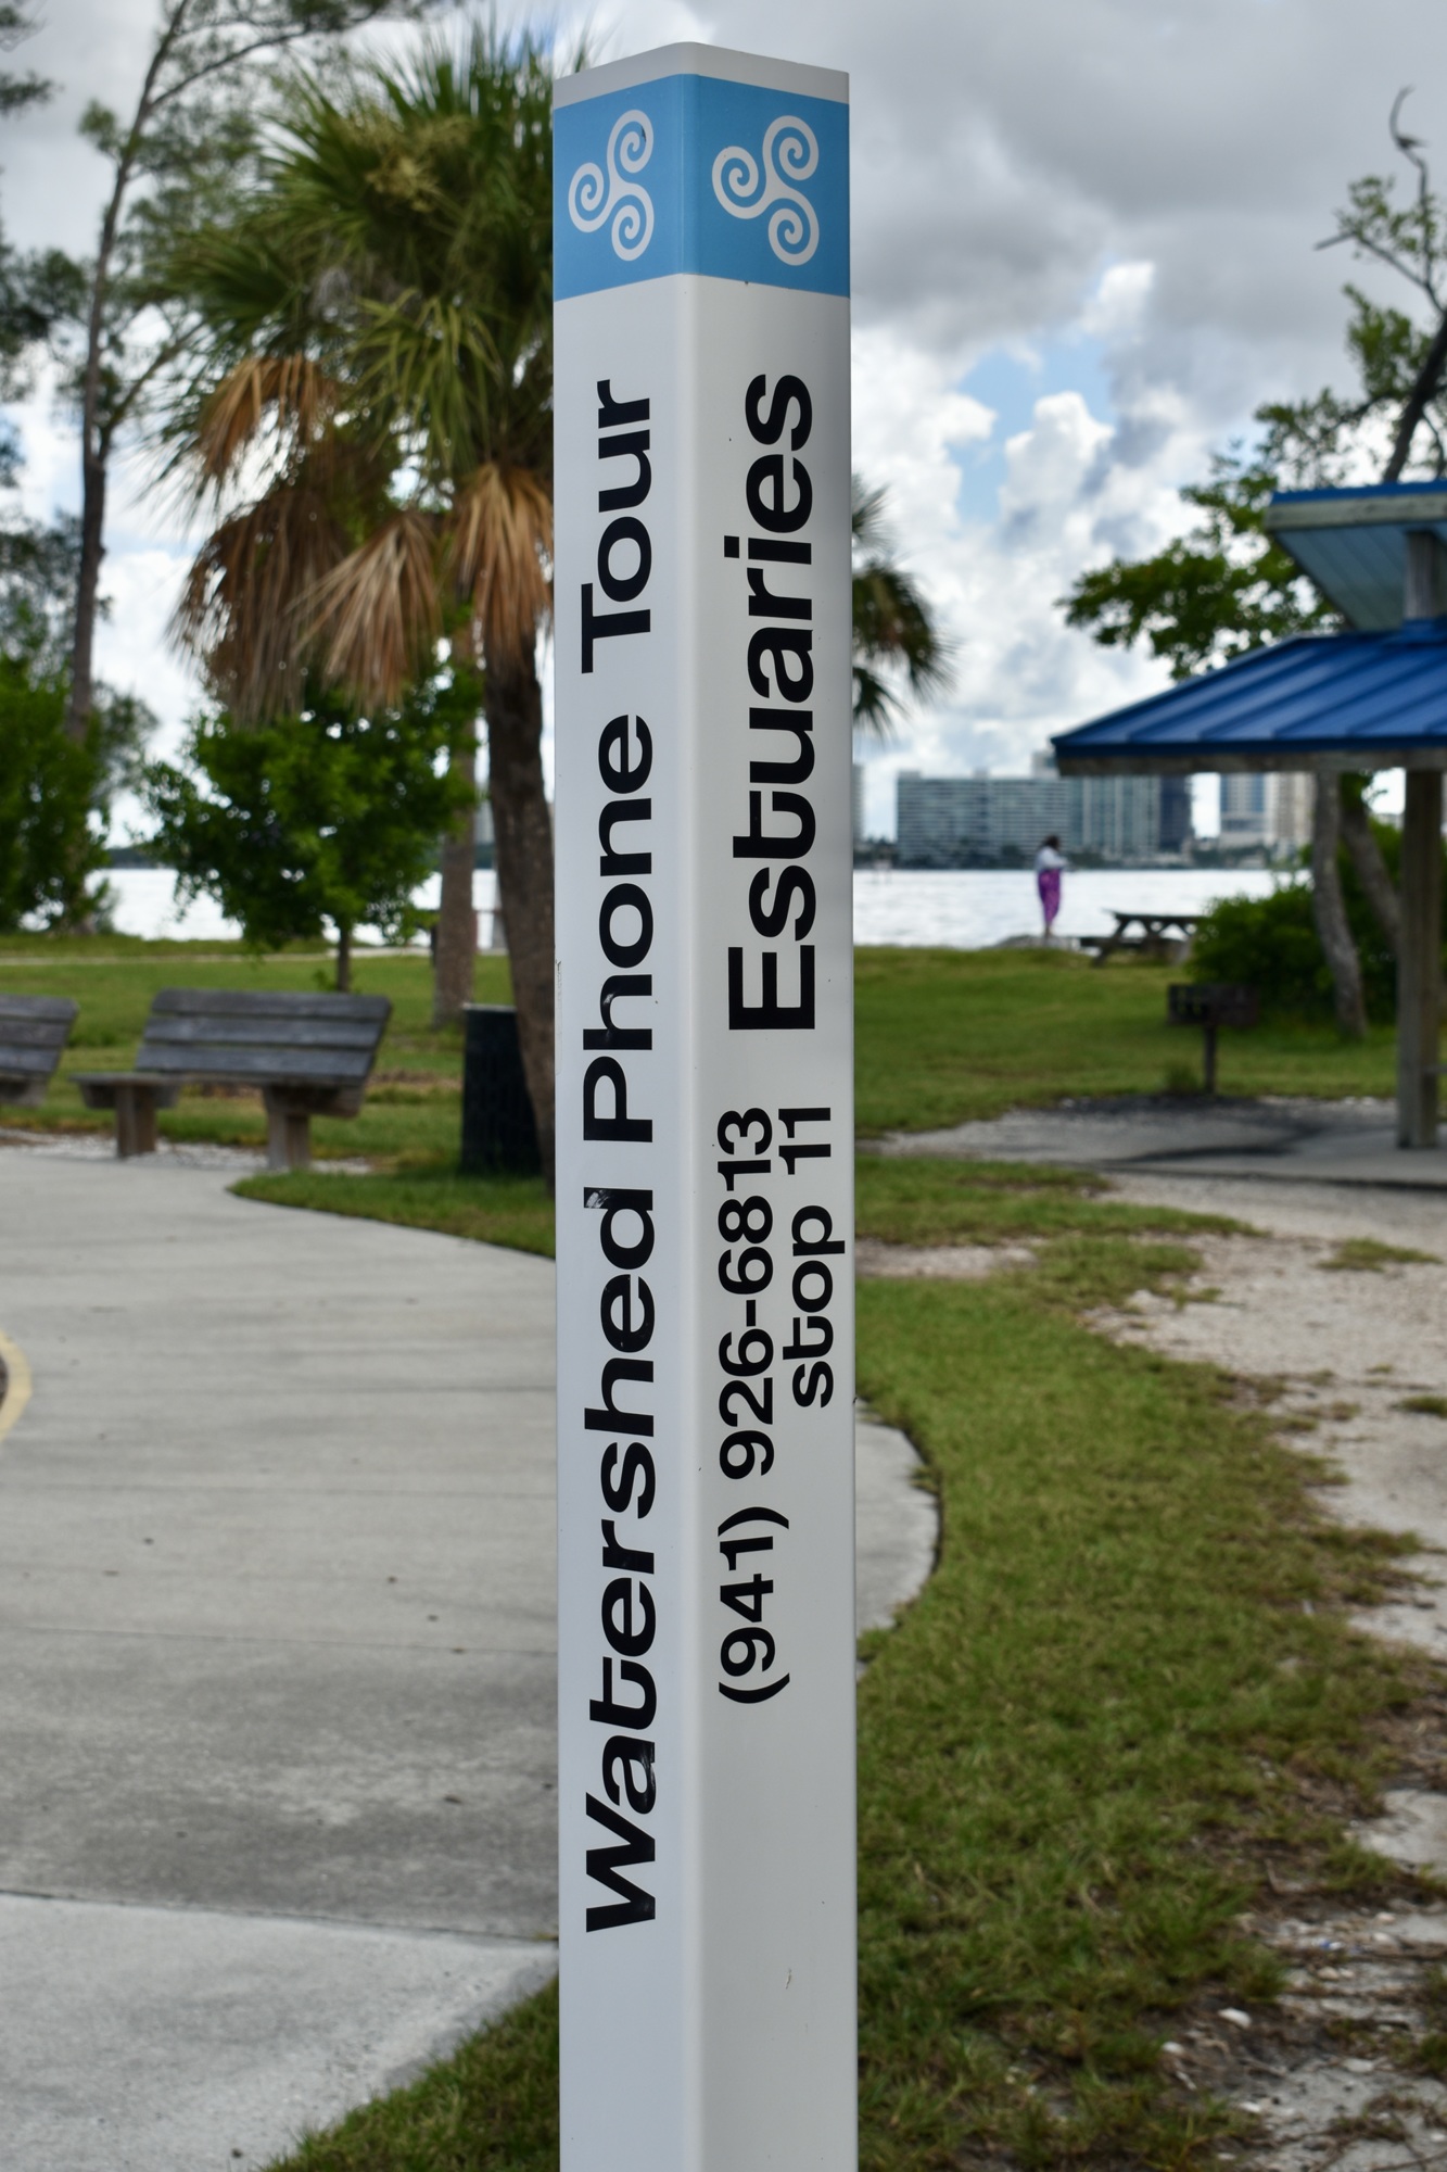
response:
[[[608,89],[621,72],[591,98],[587,74],[558,85],[556,300],[676,272],[847,295],[843,100],[691,70]]]

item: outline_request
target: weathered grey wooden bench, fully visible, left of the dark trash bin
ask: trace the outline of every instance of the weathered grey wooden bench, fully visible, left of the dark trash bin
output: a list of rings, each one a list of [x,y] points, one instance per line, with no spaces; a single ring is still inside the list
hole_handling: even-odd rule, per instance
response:
[[[356,1116],[391,1016],[385,995],[163,988],[135,1071],[83,1071],[87,1108],[115,1110],[115,1151],[156,1151],[156,1110],[187,1084],[259,1086],[267,1166],[311,1164],[311,1119]]]

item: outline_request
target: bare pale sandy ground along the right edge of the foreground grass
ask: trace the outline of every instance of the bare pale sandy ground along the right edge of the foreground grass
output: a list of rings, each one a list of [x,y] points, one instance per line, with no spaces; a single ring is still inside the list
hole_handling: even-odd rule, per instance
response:
[[[1430,1407],[1447,1412],[1447,1199],[1149,1175],[1121,1177],[1119,1192],[1234,1214],[1260,1234],[1193,1238],[1195,1303],[1141,1290],[1097,1325],[1280,1390],[1271,1407],[1284,1427],[1301,1429],[1341,1473],[1343,1483],[1319,1490],[1321,1505],[1423,1542],[1410,1594],[1362,1614],[1362,1627],[1447,1659],[1447,1416]],[[1438,1258],[1330,1264],[1351,1240]],[[1427,1407],[1406,1407],[1412,1401]],[[1447,1794],[1393,1790],[1386,1816],[1360,1838],[1447,1874]],[[1193,2085],[1195,2055],[1195,2085],[1256,2116],[1258,2137],[1238,2161],[1271,2172],[1447,2168],[1447,2089],[1393,2057],[1438,2026],[1447,1909],[1262,1916],[1254,1929],[1291,1966],[1267,2026],[1210,2048],[1184,2033],[1171,2061]]]

